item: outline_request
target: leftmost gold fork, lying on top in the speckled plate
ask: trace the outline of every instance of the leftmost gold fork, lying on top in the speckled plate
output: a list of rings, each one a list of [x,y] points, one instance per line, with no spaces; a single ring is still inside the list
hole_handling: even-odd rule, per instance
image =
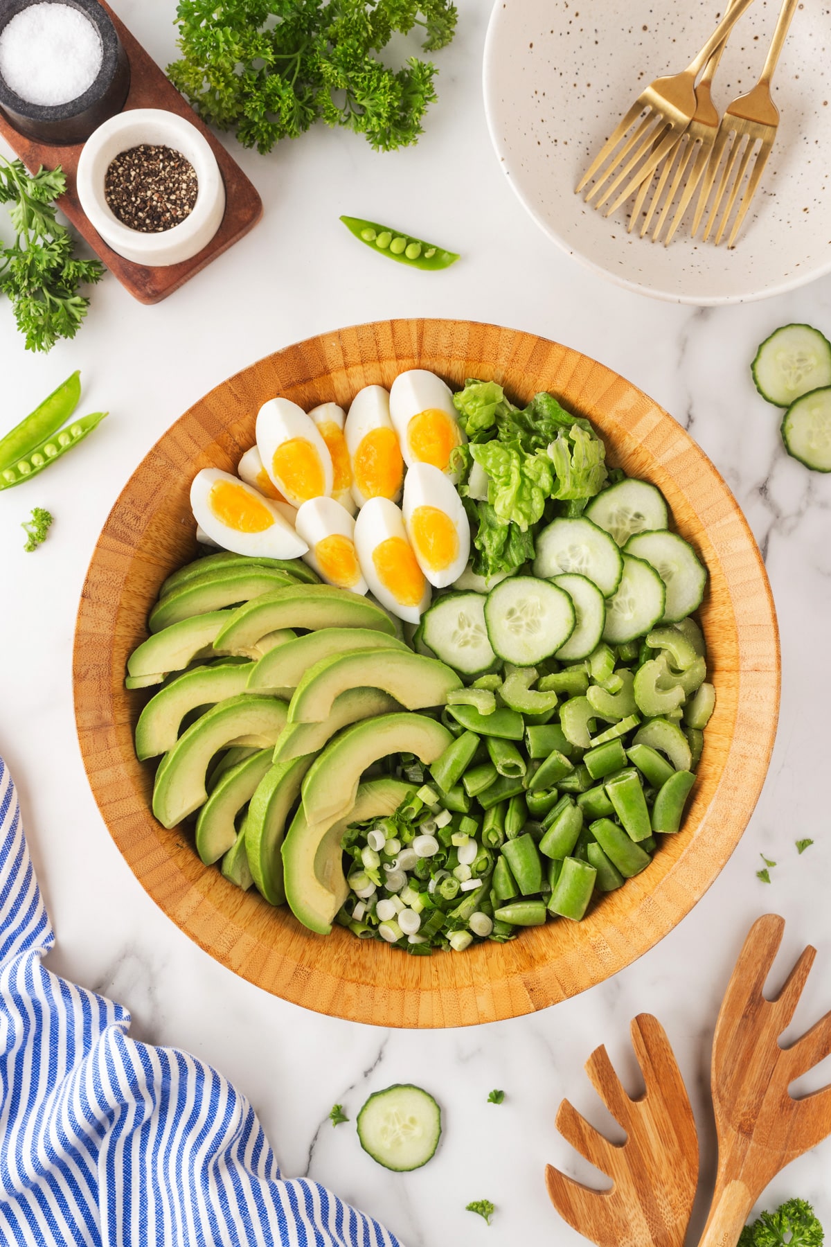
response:
[[[637,191],[645,177],[652,176],[653,171],[664,160],[670,148],[674,147],[693,120],[695,113],[695,79],[715,49],[724,42],[741,14],[751,4],[753,0],[736,0],[733,9],[724,15],[704,44],[704,47],[690,61],[683,74],[674,74],[670,77],[658,77],[640,92],[619,125],[603,143],[603,147],[576,187],[577,193],[579,193],[586,183],[594,177],[604,161],[612,156],[627,131],[632,128],[645,110],[645,117],[643,117],[634,132],[624,142],[603,176],[588,191],[586,196],[587,202],[598,195],[604,182],[612,175],[615,175],[604,193],[594,203],[596,208],[602,207],[614,195],[620,183],[635,170],[634,175],[607,209],[605,214],[609,216],[624,200],[628,200]],[[630,152],[634,153],[629,155]],[[623,163],[624,161],[625,163]]]

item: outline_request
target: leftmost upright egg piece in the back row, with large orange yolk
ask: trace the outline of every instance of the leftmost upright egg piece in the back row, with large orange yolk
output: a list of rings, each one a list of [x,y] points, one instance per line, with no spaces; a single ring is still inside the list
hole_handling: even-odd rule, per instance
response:
[[[292,506],[331,494],[331,455],[314,420],[288,398],[263,403],[257,415],[257,449],[272,484]]]

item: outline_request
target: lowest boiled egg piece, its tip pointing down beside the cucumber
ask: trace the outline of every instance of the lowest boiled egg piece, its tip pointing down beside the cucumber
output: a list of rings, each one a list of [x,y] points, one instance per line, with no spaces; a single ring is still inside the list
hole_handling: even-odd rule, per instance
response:
[[[401,511],[389,498],[370,498],[358,513],[355,549],[381,606],[417,624],[430,605],[430,585],[407,541]]]

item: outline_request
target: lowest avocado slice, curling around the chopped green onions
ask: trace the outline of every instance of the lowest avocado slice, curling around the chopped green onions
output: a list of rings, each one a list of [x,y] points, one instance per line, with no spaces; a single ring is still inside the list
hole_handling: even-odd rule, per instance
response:
[[[349,813],[311,826],[300,806],[283,842],[283,867],[285,898],[304,927],[328,935],[335,914],[349,895],[340,847],[349,824],[394,814],[412,791],[414,784],[401,783],[400,779],[370,779],[358,789]]]

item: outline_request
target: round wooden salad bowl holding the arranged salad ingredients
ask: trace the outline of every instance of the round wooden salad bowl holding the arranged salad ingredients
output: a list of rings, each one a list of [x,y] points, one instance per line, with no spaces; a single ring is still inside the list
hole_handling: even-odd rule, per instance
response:
[[[314,935],[288,908],[240,892],[202,864],[187,827],[152,816],[153,766],[133,752],[145,693],[123,685],[127,656],[164,577],[193,559],[188,505],[202,468],[233,471],[277,394],[305,410],[348,407],[363,387],[429,368],[455,388],[496,379],[526,403],[552,390],[588,416],[609,458],[664,493],[680,534],[709,570],[700,611],[716,707],[681,832],[653,864],[597,902],[582,923],[549,922],[508,944],[406,956],[340,927]],[[529,333],[467,320],[384,320],[278,350],[199,399],[138,465],[92,555],[75,636],[75,712],[83,763],[131,869],[191,939],[258,986],[318,1013],[382,1026],[465,1026],[544,1009],[602,983],[684,918],[733,853],[774,744],[780,655],[765,569],[750,529],[709,459],[675,420],[586,355]]]

